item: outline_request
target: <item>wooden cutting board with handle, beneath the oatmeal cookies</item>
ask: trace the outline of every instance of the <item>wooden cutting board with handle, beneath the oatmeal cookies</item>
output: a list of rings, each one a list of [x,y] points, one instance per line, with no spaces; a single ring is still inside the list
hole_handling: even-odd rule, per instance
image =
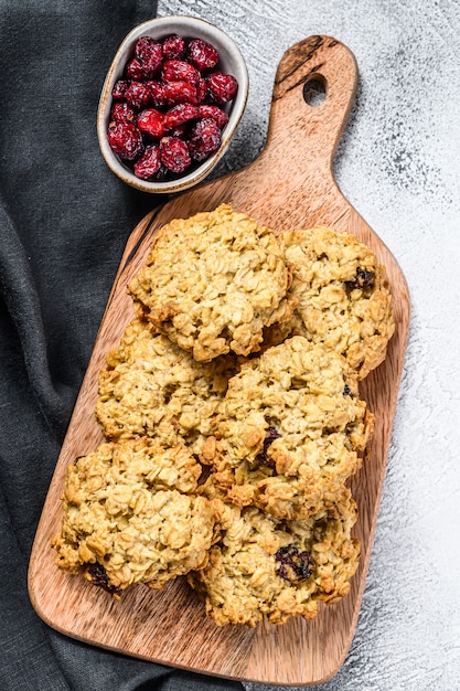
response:
[[[320,105],[304,99],[312,81],[325,88]],[[248,167],[178,195],[133,230],[122,256],[94,353],[53,476],[32,551],[29,589],[51,627],[104,648],[196,672],[271,684],[303,685],[332,677],[345,659],[356,624],[377,519],[409,322],[409,296],[397,262],[335,183],[332,159],[356,91],[350,50],[329,36],[311,36],[284,55],[275,81],[264,151]],[[365,180],[363,180],[365,184]],[[157,228],[231,203],[259,223],[282,231],[329,225],[355,234],[386,266],[393,288],[396,332],[386,361],[363,383],[375,413],[372,445],[352,489],[359,504],[354,533],[362,544],[349,595],[323,606],[312,621],[266,623],[256,629],[217,627],[182,580],[162,591],[136,586],[120,602],[54,564],[52,536],[60,531],[65,468],[103,440],[95,422],[97,379],[105,355],[118,346],[132,318],[126,286],[147,258]],[[180,270],[180,267],[178,267]]]

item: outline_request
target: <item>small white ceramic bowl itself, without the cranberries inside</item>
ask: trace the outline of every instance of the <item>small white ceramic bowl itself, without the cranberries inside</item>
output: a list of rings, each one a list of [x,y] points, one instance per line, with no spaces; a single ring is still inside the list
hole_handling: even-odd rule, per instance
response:
[[[122,77],[124,67],[127,61],[132,57],[135,43],[140,36],[151,36],[160,41],[170,34],[178,34],[182,39],[203,39],[203,41],[207,41],[214,45],[220,54],[218,68],[236,77],[238,91],[235,98],[227,104],[225,108],[229,119],[222,130],[222,145],[215,153],[191,172],[185,171],[183,176],[173,180],[147,181],[137,178],[132,170],[130,170],[109,147],[107,127],[113,105],[111,89],[115,83]],[[247,67],[239,49],[234,41],[224,31],[217,29],[217,26],[202,19],[185,15],[160,17],[139,24],[130,31],[115,54],[100,94],[97,110],[97,136],[100,151],[107,166],[121,180],[143,192],[156,194],[180,192],[197,184],[210,174],[217,161],[225,153],[245,110],[248,87],[249,79]]]

